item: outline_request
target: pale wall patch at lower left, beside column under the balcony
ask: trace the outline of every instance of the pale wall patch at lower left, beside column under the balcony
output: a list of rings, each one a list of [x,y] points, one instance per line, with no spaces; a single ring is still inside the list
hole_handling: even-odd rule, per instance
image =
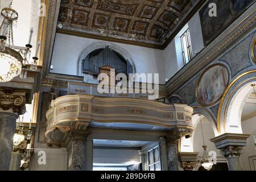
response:
[[[46,165],[39,165],[39,151],[46,152]],[[31,158],[30,171],[66,171],[68,153],[66,148],[35,148]]]

